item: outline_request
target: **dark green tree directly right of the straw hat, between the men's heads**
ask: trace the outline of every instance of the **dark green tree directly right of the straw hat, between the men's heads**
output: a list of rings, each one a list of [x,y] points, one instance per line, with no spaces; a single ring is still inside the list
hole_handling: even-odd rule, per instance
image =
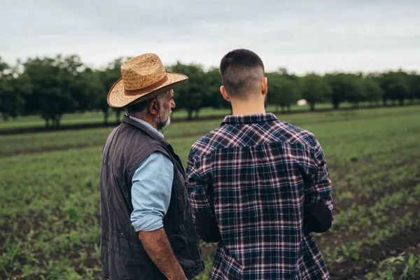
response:
[[[176,87],[174,100],[179,109],[185,109],[188,113],[188,120],[198,117],[198,112],[204,105],[205,95],[207,90],[206,75],[202,66],[196,64],[181,64],[180,62],[169,67],[170,71],[183,73],[188,76],[188,81]]]

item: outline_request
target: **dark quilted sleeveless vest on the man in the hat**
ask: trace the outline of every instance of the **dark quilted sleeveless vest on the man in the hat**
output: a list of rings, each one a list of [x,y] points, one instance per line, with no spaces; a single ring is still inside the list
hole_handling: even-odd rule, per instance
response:
[[[184,181],[184,169],[172,146],[146,126],[124,116],[109,135],[102,152],[100,177],[101,262],[109,279],[166,279],[141,246],[131,225],[132,176],[141,161],[155,151],[174,164],[174,181],[163,228],[188,279],[204,269]],[[160,170],[156,170],[159,176]]]

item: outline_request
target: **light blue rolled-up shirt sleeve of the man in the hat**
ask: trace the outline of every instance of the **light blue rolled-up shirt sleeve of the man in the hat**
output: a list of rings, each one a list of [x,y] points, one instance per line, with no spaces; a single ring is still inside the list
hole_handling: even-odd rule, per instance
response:
[[[136,232],[163,227],[174,180],[174,164],[161,152],[151,153],[137,167],[132,178],[131,223]]]

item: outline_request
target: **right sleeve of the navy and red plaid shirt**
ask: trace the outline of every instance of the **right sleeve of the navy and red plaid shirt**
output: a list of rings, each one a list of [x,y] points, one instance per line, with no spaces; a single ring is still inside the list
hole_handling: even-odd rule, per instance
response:
[[[321,145],[315,139],[312,147],[315,172],[312,177],[310,188],[305,191],[305,204],[307,207],[312,204],[323,202],[332,211],[331,180],[328,173],[328,166]]]

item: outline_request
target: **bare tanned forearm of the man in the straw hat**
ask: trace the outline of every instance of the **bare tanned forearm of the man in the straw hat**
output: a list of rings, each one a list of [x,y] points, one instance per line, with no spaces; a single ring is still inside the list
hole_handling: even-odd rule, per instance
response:
[[[181,265],[176,260],[171,244],[163,228],[151,232],[139,232],[139,239],[149,257],[169,280],[186,280]]]

